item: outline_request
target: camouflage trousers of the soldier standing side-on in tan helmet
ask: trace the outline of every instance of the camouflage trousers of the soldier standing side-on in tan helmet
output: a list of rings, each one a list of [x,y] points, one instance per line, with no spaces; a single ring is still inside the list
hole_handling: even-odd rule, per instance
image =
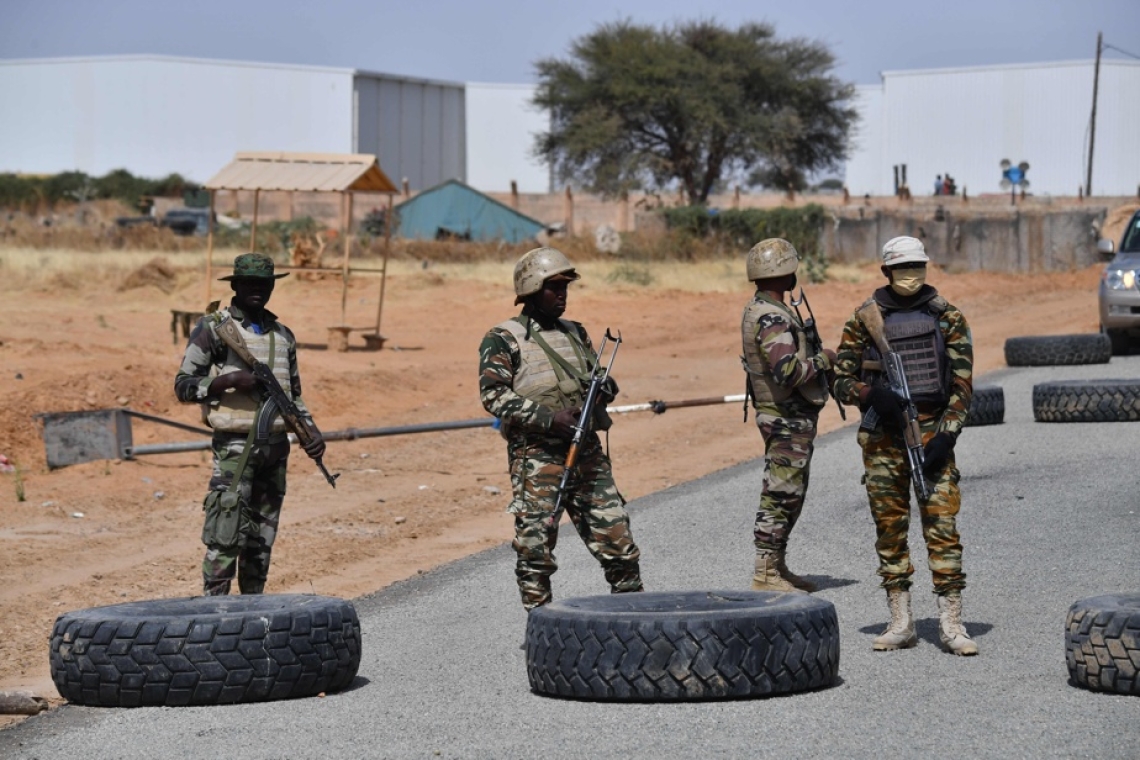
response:
[[[756,409],[756,426],[764,439],[764,489],[752,537],[757,549],[769,551],[787,549],[804,509],[820,416],[782,416],[776,411]]]

